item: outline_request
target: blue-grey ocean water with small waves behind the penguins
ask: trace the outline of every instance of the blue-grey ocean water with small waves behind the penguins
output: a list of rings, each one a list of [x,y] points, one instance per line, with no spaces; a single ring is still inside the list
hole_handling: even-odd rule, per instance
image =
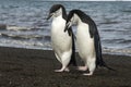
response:
[[[130,1],[0,0],[0,46],[50,50],[51,21],[46,17],[56,3],[68,12],[80,9],[95,21],[104,53],[131,55]]]

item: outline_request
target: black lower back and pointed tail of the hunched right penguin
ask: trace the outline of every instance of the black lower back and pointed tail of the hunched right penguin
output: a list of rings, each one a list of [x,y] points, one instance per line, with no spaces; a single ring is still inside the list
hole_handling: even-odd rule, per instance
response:
[[[108,70],[116,71],[116,70],[109,67],[103,60],[102,45],[100,45],[100,39],[99,39],[99,35],[98,35],[97,30],[96,30],[96,34],[94,35],[94,40],[95,40],[95,51],[96,51],[96,67],[104,66]]]

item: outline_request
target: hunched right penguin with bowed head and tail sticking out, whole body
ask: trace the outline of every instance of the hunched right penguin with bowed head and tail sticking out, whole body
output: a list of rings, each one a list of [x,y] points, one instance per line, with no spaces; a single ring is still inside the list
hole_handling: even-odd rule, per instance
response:
[[[96,66],[112,70],[103,61],[100,38],[95,22],[81,10],[72,10],[68,15],[64,32],[73,24],[78,26],[76,44],[79,54],[85,64],[83,67],[80,66],[79,70],[86,71],[88,69],[90,73],[84,75],[93,75]]]

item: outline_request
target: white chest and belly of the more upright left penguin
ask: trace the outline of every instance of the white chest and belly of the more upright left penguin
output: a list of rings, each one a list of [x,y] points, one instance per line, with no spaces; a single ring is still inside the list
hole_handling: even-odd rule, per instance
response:
[[[60,16],[52,20],[51,44],[56,52],[61,53],[71,50],[72,39],[68,32],[64,33],[66,21]]]

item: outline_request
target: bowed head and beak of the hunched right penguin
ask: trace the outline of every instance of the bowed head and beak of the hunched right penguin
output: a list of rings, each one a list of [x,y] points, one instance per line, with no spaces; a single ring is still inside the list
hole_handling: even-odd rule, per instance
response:
[[[80,10],[72,10],[69,12],[66,23],[64,32],[67,32],[73,24],[78,24],[80,21],[79,13]]]

